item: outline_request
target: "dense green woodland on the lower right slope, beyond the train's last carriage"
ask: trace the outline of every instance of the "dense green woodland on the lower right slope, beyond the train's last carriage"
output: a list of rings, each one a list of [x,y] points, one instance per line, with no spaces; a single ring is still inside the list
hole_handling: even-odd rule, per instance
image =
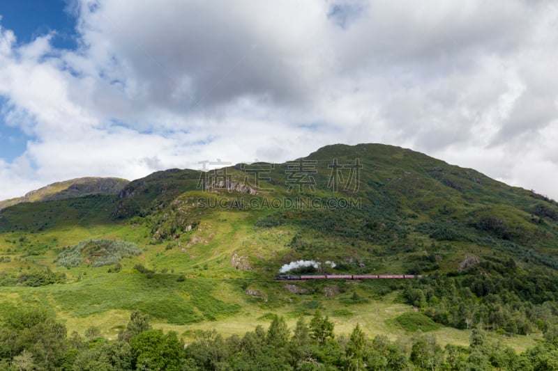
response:
[[[435,322],[529,335],[558,329],[557,278],[553,271],[520,271],[515,261],[492,258],[466,274],[431,274],[404,290],[405,301]],[[550,335],[548,335],[550,336]]]

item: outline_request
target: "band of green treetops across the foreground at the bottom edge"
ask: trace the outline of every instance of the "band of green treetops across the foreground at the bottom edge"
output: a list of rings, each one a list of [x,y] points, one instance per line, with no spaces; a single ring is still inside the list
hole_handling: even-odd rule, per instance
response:
[[[420,332],[395,341],[369,338],[358,324],[350,336],[335,336],[333,322],[317,311],[294,329],[274,315],[267,329],[229,338],[202,331],[185,345],[174,331],[152,329],[137,311],[109,341],[95,327],[68,336],[40,308],[12,308],[3,315],[0,357],[1,370],[558,370],[558,331],[517,354],[488,342],[482,329],[472,331],[469,347],[442,347]]]

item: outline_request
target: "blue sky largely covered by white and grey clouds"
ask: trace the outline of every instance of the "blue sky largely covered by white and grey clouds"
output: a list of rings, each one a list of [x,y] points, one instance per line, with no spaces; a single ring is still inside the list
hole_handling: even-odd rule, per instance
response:
[[[555,0],[18,0],[0,16],[0,199],[333,143],[558,199]]]

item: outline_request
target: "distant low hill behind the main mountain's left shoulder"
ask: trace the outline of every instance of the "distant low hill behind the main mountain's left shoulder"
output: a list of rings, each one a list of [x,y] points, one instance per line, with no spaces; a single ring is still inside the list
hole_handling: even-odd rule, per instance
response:
[[[128,180],[116,177],[81,177],[56,182],[35,191],[30,191],[23,197],[0,201],[0,210],[18,203],[63,200],[90,194],[118,194],[128,183]]]

